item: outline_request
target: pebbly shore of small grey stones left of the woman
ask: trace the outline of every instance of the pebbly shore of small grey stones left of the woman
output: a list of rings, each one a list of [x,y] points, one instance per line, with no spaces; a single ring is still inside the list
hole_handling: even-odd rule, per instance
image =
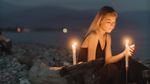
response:
[[[144,63],[150,67],[149,61]],[[71,64],[70,50],[40,44],[14,43],[11,55],[0,56],[0,84],[54,84],[46,83],[46,80],[49,80],[47,73],[53,73],[47,71],[48,68]],[[40,83],[43,79],[37,77],[36,73],[45,76],[47,79],[44,81],[46,82]]]

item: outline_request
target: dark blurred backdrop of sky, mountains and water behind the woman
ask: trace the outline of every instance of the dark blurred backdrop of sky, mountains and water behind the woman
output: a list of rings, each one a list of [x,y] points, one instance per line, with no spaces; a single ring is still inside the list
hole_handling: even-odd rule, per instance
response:
[[[83,39],[96,12],[104,5],[119,13],[112,32],[113,54],[124,49],[128,35],[136,45],[135,57],[150,56],[149,0],[0,0],[0,29],[14,41],[68,48],[70,39]],[[17,33],[16,28],[27,31]],[[63,28],[68,33],[62,32]]]

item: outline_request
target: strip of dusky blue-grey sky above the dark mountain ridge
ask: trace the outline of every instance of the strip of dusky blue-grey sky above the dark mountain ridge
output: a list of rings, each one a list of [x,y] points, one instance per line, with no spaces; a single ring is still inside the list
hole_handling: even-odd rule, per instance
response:
[[[103,4],[119,11],[150,11],[149,0],[1,0],[15,6],[30,8],[53,5],[77,10],[99,9]]]

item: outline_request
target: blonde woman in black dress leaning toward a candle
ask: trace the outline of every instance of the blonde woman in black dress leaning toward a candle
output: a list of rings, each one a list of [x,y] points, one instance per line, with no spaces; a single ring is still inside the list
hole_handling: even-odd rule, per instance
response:
[[[125,56],[132,57],[135,50],[134,45],[129,45],[121,53],[112,56],[110,33],[115,27],[117,17],[118,14],[112,7],[102,7],[97,12],[81,44],[78,63],[96,59],[104,60],[104,66],[99,69],[98,73],[96,72],[101,75],[99,84],[121,84],[119,83],[121,69],[117,63]]]

